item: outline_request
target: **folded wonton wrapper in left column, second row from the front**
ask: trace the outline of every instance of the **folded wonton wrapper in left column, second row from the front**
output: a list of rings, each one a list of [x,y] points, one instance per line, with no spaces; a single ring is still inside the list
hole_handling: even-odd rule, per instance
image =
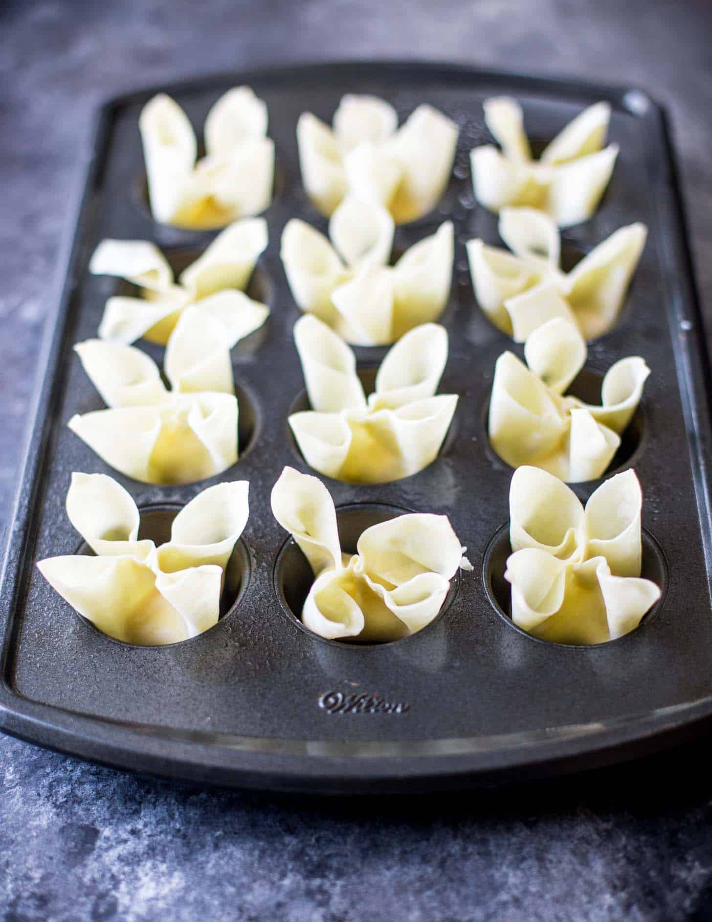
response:
[[[189,307],[156,363],[134,346],[88,339],[76,353],[109,409],[69,428],[111,467],[146,483],[192,483],[238,460],[238,401],[223,325]]]

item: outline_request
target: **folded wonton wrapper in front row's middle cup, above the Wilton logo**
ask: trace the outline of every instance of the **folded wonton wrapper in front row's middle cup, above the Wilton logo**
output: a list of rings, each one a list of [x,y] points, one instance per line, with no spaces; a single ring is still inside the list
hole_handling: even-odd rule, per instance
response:
[[[329,640],[398,640],[438,614],[459,568],[472,570],[446,515],[407,514],[371,526],[343,554],[329,491],[285,467],[272,511],[304,552],[316,577],[301,619]]]

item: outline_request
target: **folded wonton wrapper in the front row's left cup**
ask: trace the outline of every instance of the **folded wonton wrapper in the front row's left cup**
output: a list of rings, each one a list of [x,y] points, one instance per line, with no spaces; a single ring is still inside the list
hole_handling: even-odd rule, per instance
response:
[[[217,623],[228,560],[247,524],[247,480],[199,493],[176,515],[170,541],[138,539],[131,495],[105,474],[73,474],[66,511],[97,555],[37,566],[100,631],[129,644],[174,644]]]

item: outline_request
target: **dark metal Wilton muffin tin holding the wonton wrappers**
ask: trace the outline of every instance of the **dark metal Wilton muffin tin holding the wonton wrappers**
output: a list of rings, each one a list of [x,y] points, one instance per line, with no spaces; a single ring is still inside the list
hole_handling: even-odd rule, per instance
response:
[[[270,242],[250,293],[268,301],[263,329],[233,350],[239,463],[188,486],[127,479],[66,428],[102,406],[72,352],[96,335],[104,303],[122,290],[88,274],[105,237],[153,241],[176,268],[215,231],[159,225],[146,207],[137,120],[159,90],[200,130],[227,89],[247,83],[267,102],[276,144]],[[331,121],[346,92],[390,100],[401,119],[430,102],[461,126],[449,188],[433,213],[399,227],[395,250],[452,220],[452,297],[442,322],[449,361],[440,393],[460,395],[438,459],[379,486],[324,479],[344,550],[369,525],[403,511],[443,513],[468,548],[436,621],[391,644],[324,641],[298,621],[306,561],[274,521],[270,491],[288,464],[308,471],[290,437],[290,408],[306,403],[292,326],[298,309],[279,260],[286,221],[326,220],[305,197],[295,128],[309,110]],[[613,329],[589,344],[573,393],[589,396],[614,361],[641,355],[652,369],[641,408],[613,468],[635,466],[644,493],[644,568],[663,595],[641,626],[594,647],[548,644],[508,619],[511,469],[491,450],[486,406],[497,356],[521,347],[473,298],[465,241],[497,243],[497,219],[475,204],[469,151],[490,140],[483,100],[507,93],[530,136],[548,140],[596,100],[613,106],[621,152],[595,216],[564,231],[565,252],[589,251],[624,224],[648,224],[648,243]],[[18,492],[0,608],[0,727],[24,739],[134,771],[221,785],[320,792],[385,792],[491,783],[631,757],[700,732],[712,716],[708,370],[664,113],[637,89],[515,77],[454,65],[361,63],[289,67],[161,86],[111,100],[99,112],[76,234],[53,328]],[[158,363],[163,349],[140,341]],[[372,381],[386,349],[357,348]],[[370,369],[370,371],[369,371]],[[597,373],[598,372],[598,373]],[[64,512],[72,471],[111,474],[131,492],[144,533],[204,487],[251,484],[250,520],[233,555],[230,595],[215,628],[164,647],[135,647],[83,621],[44,582],[41,558],[81,550]],[[582,500],[601,481],[577,484]],[[155,514],[146,515],[147,511]]]

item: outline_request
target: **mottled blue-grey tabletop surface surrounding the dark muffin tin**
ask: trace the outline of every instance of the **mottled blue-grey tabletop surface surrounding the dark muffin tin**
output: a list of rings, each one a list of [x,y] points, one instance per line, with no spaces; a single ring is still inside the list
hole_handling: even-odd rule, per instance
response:
[[[712,4],[0,0],[0,521],[58,245],[110,94],[339,57],[647,89],[671,112],[712,310]],[[493,795],[318,800],[174,787],[0,737],[0,919],[712,919],[706,740]]]

